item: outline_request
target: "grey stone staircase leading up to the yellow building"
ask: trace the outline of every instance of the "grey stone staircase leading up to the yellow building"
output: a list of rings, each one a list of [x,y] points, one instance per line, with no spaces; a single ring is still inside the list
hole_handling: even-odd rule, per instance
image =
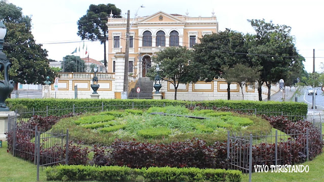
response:
[[[150,80],[148,77],[141,77],[136,82],[136,85],[134,88],[131,89],[131,92],[128,96],[128,99],[137,99],[137,92],[136,88],[140,87],[141,92],[139,94],[139,99],[152,99],[152,93],[153,93],[153,81]]]

